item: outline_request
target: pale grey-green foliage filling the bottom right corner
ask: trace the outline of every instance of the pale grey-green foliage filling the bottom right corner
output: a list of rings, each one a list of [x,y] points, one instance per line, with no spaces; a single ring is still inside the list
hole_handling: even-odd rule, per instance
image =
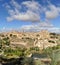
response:
[[[44,49],[44,53],[51,58],[51,65],[58,65],[60,61],[60,46],[54,46]]]

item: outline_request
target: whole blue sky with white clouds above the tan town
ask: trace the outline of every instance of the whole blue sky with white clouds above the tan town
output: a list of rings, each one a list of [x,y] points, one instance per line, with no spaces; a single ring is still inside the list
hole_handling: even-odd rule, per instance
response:
[[[0,31],[60,32],[60,0],[0,0]]]

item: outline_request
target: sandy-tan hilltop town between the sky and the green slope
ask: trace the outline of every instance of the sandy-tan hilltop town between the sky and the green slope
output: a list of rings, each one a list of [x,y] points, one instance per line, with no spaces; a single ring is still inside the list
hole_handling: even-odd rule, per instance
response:
[[[2,35],[8,36],[12,46],[38,46],[39,48],[47,48],[56,46],[58,44],[60,36],[55,33],[49,33],[46,30],[42,30],[40,32],[18,32],[11,31],[7,33],[3,33]],[[1,34],[0,34],[1,38]]]

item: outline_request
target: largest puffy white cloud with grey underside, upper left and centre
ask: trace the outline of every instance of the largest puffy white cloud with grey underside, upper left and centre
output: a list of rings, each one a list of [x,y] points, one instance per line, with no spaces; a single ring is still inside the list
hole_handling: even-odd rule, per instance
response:
[[[11,1],[11,4],[14,9],[9,8],[8,13],[9,17],[7,17],[8,21],[13,20],[22,20],[22,21],[31,21],[37,22],[40,21],[40,4],[35,1],[25,1],[21,4],[18,4],[15,0]],[[27,8],[26,12],[21,12],[22,6]]]

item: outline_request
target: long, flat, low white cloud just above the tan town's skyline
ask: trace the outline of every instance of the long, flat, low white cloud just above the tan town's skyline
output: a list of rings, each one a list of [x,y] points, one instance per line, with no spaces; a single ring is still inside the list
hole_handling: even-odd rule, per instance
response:
[[[44,24],[44,26],[42,25]],[[47,22],[39,23],[39,24],[34,24],[34,25],[23,25],[20,27],[20,31],[25,31],[25,32],[40,32],[41,30],[48,30],[50,32],[55,32],[55,33],[60,33],[60,28],[54,27],[53,25],[49,25]]]

